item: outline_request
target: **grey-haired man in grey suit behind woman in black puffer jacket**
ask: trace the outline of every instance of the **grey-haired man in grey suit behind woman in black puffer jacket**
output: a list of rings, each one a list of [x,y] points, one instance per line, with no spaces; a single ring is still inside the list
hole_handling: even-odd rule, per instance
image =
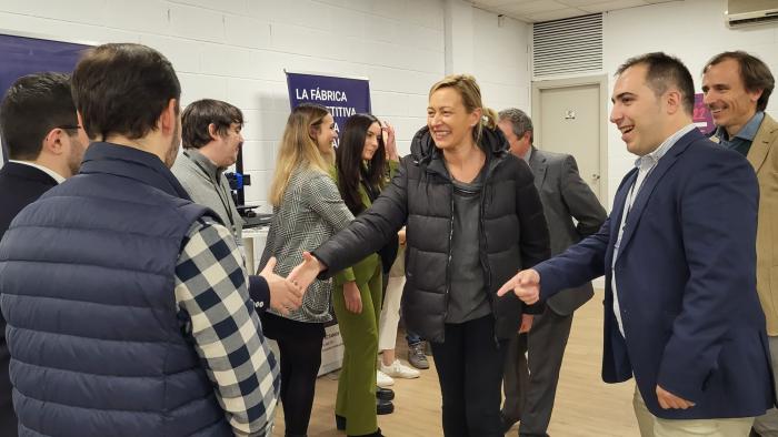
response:
[[[532,120],[519,109],[500,111],[498,126],[508,139],[510,152],[527,161],[532,169],[551,236],[551,254],[562,253],[596,233],[607,214],[578,174],[576,159],[536,149]],[[517,334],[510,342],[502,382],[505,431],[521,420],[520,436],[547,436],[572,313],[592,295],[589,282],[572,293],[557,294],[548,299],[546,312],[535,316],[531,331]]]

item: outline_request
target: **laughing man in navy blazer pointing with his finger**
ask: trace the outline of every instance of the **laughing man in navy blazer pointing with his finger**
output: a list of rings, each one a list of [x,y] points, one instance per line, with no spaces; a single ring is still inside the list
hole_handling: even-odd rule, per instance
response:
[[[648,53],[617,77],[610,121],[637,169],[597,234],[500,293],[533,303],[605,274],[602,379],[635,376],[641,435],[746,436],[775,403],[754,170],[695,129],[694,82],[679,60]]]

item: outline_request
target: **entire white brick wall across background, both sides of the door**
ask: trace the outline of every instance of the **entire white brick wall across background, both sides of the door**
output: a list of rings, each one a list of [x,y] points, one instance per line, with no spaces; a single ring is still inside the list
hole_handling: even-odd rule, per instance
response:
[[[446,71],[446,4],[456,8],[458,44]],[[451,7],[449,7],[451,9]],[[263,204],[275,149],[289,111],[283,69],[370,79],[373,112],[395,124],[399,148],[425,123],[429,87],[445,73],[475,74],[488,106],[530,109],[530,27],[461,0],[3,0],[0,29],[86,42],[140,42],[164,53],[182,103],[226,100],[246,111],[247,200]],[[778,72],[778,27],[727,29],[725,0],[686,0],[606,13],[605,72],[628,57],[670,50],[699,72],[716,52],[746,49]],[[466,51],[462,51],[462,48]],[[467,67],[470,71],[459,71]],[[609,87],[612,87],[612,80]],[[776,114],[778,101],[768,112]],[[612,126],[608,192],[632,156]]]

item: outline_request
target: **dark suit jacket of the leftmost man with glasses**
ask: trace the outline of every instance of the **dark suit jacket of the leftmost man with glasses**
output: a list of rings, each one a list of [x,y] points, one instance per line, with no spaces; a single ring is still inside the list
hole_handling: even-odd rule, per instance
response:
[[[51,176],[30,165],[7,162],[0,169],[0,240],[8,231],[13,217],[24,206],[57,185]],[[17,435],[17,416],[11,403],[10,363],[6,343],[6,319],[0,315],[0,435]]]

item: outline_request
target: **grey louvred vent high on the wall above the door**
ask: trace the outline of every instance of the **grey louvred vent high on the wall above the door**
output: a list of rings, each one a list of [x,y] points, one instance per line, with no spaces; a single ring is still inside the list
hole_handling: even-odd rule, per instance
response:
[[[532,24],[532,75],[536,79],[601,70],[601,13]]]

